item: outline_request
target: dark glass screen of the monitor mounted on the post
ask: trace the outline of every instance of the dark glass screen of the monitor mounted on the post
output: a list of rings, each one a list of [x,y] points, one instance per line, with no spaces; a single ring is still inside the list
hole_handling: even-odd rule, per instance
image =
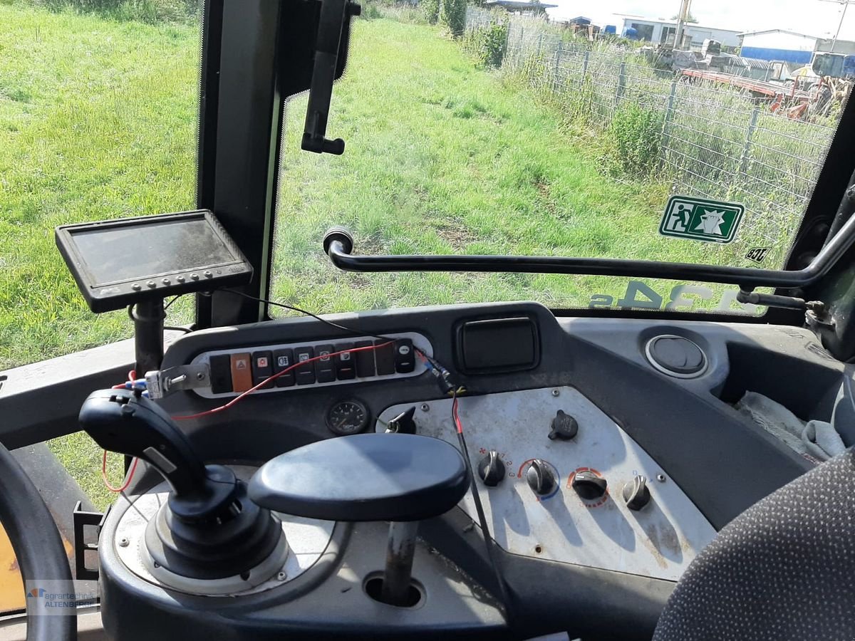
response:
[[[203,218],[71,232],[94,286],[241,260]]]

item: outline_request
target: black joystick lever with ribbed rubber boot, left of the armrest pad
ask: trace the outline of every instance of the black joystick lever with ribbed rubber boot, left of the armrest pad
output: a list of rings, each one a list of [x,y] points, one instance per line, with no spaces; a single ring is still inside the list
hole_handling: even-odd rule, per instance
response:
[[[165,584],[212,579],[210,593],[239,591],[282,567],[280,521],[251,501],[231,469],[205,465],[157,403],[133,390],[94,391],[80,426],[104,450],[148,462],[172,489],[144,532],[144,562]]]

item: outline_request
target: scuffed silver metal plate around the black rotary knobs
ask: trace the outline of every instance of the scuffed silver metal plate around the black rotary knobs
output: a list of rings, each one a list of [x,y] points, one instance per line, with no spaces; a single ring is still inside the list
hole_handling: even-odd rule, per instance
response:
[[[389,420],[407,409],[380,415]],[[451,443],[451,400],[426,403],[416,415],[419,433]],[[579,433],[550,440],[558,410],[573,415]],[[497,487],[478,483],[487,522],[498,544],[513,554],[573,563],[654,579],[677,580],[716,531],[672,479],[657,481],[662,468],[616,423],[571,387],[464,397],[459,413],[473,468],[489,450],[504,460],[508,478]],[[383,431],[378,423],[378,431]],[[542,459],[557,472],[557,490],[537,497],[525,480],[528,463]],[[572,475],[593,468],[609,482],[605,497],[586,502],[570,487]],[[623,486],[644,475],[652,501],[634,512],[621,498]],[[475,519],[470,496],[463,509]]]

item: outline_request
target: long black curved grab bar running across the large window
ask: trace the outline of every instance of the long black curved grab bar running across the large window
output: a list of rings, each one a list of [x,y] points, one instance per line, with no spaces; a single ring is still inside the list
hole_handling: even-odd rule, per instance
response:
[[[333,265],[348,272],[567,273],[721,283],[739,285],[743,291],[757,287],[792,290],[813,285],[834,268],[852,244],[855,244],[855,217],[846,222],[806,268],[781,271],[563,256],[354,256],[353,237],[343,227],[330,229],[323,241],[324,251]]]

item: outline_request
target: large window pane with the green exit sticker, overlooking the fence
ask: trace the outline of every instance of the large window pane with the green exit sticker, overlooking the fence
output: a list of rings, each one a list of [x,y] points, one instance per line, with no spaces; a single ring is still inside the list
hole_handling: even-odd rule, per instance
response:
[[[759,314],[702,283],[340,273],[319,239],[343,224],[363,254],[783,268],[855,74],[845,11],[370,2],[333,91],[327,135],[344,156],[301,151],[306,97],[287,106],[273,296],[325,311],[528,299]]]

